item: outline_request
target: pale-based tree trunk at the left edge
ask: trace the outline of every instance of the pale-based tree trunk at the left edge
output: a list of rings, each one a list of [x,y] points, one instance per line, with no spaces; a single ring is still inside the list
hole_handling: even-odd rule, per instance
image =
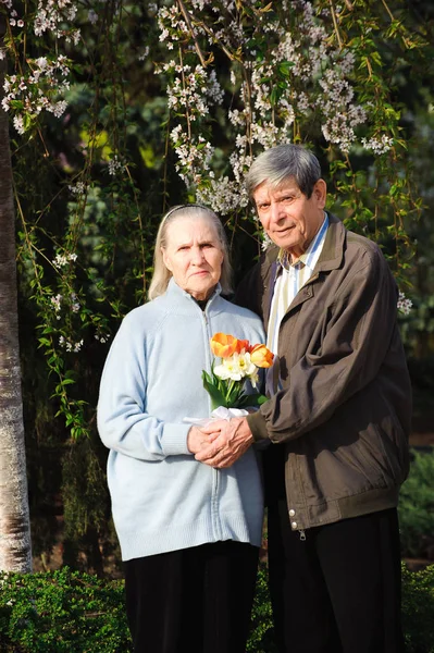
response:
[[[0,16],[0,45],[4,20]],[[0,60],[0,100],[5,60]],[[0,569],[32,570],[8,115],[0,107]]]

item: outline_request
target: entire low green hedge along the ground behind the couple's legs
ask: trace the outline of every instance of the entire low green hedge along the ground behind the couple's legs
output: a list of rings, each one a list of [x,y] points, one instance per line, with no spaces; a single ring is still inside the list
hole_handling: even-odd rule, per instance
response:
[[[406,653],[434,653],[434,565],[402,566]],[[0,653],[128,653],[122,581],[67,567],[47,574],[0,574]],[[312,625],[314,627],[314,625]],[[266,567],[261,565],[247,651],[276,653]]]

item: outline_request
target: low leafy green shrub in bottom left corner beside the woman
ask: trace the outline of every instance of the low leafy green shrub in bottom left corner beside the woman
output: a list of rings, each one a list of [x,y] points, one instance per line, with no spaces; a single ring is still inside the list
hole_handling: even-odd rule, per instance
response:
[[[132,651],[122,581],[64,567],[48,574],[3,572],[0,586],[1,653]]]

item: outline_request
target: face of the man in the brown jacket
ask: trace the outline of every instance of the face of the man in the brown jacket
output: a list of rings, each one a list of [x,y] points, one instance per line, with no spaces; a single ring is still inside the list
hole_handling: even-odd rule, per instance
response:
[[[298,259],[324,220],[326,185],[319,180],[308,199],[293,177],[280,186],[264,182],[253,193],[258,217],[270,238]]]

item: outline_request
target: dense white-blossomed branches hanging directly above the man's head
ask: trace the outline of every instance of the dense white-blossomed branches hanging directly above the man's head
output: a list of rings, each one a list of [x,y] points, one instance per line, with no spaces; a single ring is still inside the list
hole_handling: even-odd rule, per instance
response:
[[[171,59],[158,72],[168,81],[170,139],[187,187],[234,224],[251,215],[243,182],[252,157],[281,143],[313,144],[328,168],[331,208],[356,231],[380,242],[392,236],[385,254],[400,276],[409,246],[404,218],[418,205],[408,177],[396,174],[406,143],[390,88],[394,64],[386,76],[379,40],[405,52],[423,39],[398,12],[385,1],[349,0],[161,7],[160,40]],[[222,160],[213,123],[224,96]],[[361,153],[368,170],[354,168]]]

